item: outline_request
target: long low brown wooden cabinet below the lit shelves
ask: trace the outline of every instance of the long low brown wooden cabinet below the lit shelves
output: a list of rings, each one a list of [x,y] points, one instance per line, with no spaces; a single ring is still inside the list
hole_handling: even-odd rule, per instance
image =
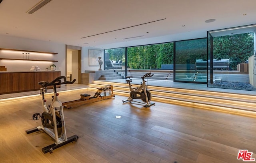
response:
[[[0,94],[39,90],[39,81],[50,82],[58,76],[60,71],[0,73]]]

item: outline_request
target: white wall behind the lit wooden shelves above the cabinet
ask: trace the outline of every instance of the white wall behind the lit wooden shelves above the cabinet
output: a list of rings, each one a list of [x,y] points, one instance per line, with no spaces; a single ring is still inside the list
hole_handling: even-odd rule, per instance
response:
[[[5,66],[7,71],[30,71],[32,66],[39,66],[41,70],[45,70],[46,68],[50,69],[51,64],[55,64],[56,70],[61,71],[62,76],[66,76],[65,44],[0,35],[0,48],[58,53],[56,55],[30,54],[30,59],[56,60],[58,62],[0,60],[0,66]],[[0,58],[13,58],[18,57],[17,55],[21,55],[21,58],[23,57],[22,53],[17,54],[14,52],[7,54],[6,52],[0,52]]]

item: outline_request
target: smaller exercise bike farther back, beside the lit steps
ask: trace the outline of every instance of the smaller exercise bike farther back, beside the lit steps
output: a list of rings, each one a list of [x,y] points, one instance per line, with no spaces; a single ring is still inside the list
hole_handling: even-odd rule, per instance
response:
[[[148,77],[152,77],[154,74],[151,74],[151,72],[145,74],[144,76],[142,76],[142,83],[140,84],[140,87],[136,87],[135,89],[132,88],[131,82],[132,82],[132,76],[126,76],[126,78],[128,78],[128,80],[126,80],[126,82],[129,84],[129,88],[130,88],[130,97],[128,99],[124,99],[122,100],[123,103],[129,101],[130,103],[132,103],[134,100],[133,99],[141,99],[143,102],[139,102],[139,101],[134,101],[137,103],[143,103],[146,104],[144,105],[144,107],[150,107],[152,105],[155,105],[155,103],[151,103],[151,93],[148,90],[148,86],[146,85],[146,81],[145,78]]]

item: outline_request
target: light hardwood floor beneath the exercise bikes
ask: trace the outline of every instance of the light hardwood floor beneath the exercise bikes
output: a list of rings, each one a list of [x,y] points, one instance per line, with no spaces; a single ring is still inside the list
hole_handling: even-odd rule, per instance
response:
[[[60,92],[62,102],[81,93]],[[50,101],[50,95],[46,97]],[[144,108],[116,97],[64,109],[67,135],[79,136],[52,154],[41,149],[54,143],[43,131],[40,97],[0,103],[1,163],[236,163],[239,149],[256,158],[256,119],[156,102]],[[115,118],[120,115],[121,118]]]

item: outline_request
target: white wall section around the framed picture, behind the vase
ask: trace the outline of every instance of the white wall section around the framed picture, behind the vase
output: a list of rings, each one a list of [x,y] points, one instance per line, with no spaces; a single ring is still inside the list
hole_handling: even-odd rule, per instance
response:
[[[89,49],[101,50],[102,51],[101,57],[102,57],[102,60],[104,60],[104,50],[96,49],[96,48],[82,47],[82,50],[81,50],[81,53],[82,53],[82,56],[81,56],[81,64],[82,64],[81,70],[82,70],[82,73],[85,70],[93,71],[93,70],[99,70],[99,68],[100,68],[100,64],[98,66],[89,66]],[[102,70],[104,70],[104,61],[103,61],[103,65],[102,65],[101,68],[102,68]]]

